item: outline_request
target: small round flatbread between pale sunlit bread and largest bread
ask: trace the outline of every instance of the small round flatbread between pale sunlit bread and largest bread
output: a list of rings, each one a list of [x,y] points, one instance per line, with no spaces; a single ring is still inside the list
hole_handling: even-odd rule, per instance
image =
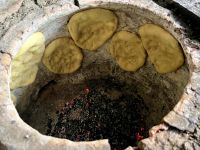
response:
[[[62,37],[47,46],[42,60],[51,72],[65,74],[79,69],[83,55],[72,39]]]

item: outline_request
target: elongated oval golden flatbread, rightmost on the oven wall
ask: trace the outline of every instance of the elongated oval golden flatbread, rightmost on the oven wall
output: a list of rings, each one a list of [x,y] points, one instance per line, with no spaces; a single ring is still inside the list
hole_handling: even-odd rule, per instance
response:
[[[176,71],[184,63],[178,41],[158,25],[145,24],[139,28],[144,48],[159,73]]]

